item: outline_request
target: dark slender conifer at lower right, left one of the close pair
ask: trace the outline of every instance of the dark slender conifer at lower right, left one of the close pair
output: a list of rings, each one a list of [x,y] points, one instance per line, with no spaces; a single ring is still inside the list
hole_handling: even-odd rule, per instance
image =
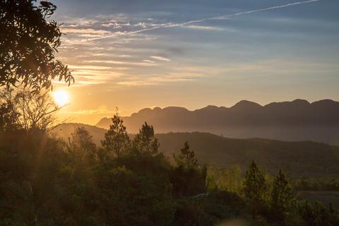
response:
[[[256,215],[260,214],[265,206],[267,185],[265,177],[263,177],[254,161],[251,162],[249,169],[246,171],[243,191],[246,202],[251,208],[252,218],[255,219]]]

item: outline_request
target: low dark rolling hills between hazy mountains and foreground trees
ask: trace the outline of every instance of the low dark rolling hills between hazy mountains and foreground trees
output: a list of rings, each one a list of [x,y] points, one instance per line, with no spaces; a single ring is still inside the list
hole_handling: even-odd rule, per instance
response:
[[[68,138],[77,126],[90,131],[97,145],[104,138],[105,129],[84,124],[61,124],[54,133]],[[275,173],[283,169],[293,177],[302,175],[322,177],[339,174],[339,147],[325,143],[309,141],[286,142],[266,139],[234,139],[216,136],[210,133],[160,133],[156,135],[160,142],[160,151],[168,157],[179,153],[185,141],[188,141],[201,163],[217,167],[240,165],[248,167],[251,160]]]

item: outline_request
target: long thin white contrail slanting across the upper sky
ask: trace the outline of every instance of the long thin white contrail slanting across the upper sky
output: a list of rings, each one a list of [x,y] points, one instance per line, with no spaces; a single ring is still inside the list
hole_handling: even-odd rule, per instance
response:
[[[106,37],[93,38],[91,40],[102,40],[102,39],[106,39],[106,38],[109,38],[109,37],[115,37],[117,35],[137,34],[137,33],[145,32],[145,31],[148,31],[148,30],[156,30],[156,29],[159,29],[159,28],[182,27],[182,26],[189,25],[189,24],[192,24],[192,23],[201,23],[201,22],[205,22],[205,21],[208,21],[208,20],[226,20],[227,18],[231,18],[231,17],[234,17],[234,16],[242,16],[242,15],[257,13],[257,12],[261,12],[261,11],[270,11],[270,10],[274,10],[274,9],[278,9],[278,8],[285,8],[285,7],[290,7],[290,6],[309,4],[309,3],[312,3],[312,2],[316,2],[316,1],[321,1],[321,0],[297,1],[297,2],[293,2],[293,3],[290,3],[290,4],[281,5],[281,6],[271,6],[271,7],[268,7],[268,8],[259,8],[259,9],[255,9],[255,10],[251,10],[251,11],[244,11],[244,12],[239,12],[239,13],[226,14],[226,15],[222,15],[222,16],[203,18],[203,19],[200,19],[200,20],[190,20],[190,21],[187,21],[187,22],[184,22],[184,23],[165,23],[165,24],[162,24],[162,25],[157,25],[153,28],[143,28],[141,30],[135,30],[135,31],[131,31],[131,32],[116,32],[116,33],[114,33],[114,35],[109,35],[109,36],[106,36]]]

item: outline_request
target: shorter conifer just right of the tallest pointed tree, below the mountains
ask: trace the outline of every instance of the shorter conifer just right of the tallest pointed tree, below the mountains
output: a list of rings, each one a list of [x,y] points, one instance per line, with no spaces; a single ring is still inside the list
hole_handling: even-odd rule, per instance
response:
[[[133,140],[133,146],[141,153],[144,154],[156,154],[159,148],[157,138],[154,137],[153,126],[148,126],[147,122],[143,124],[139,133]]]

